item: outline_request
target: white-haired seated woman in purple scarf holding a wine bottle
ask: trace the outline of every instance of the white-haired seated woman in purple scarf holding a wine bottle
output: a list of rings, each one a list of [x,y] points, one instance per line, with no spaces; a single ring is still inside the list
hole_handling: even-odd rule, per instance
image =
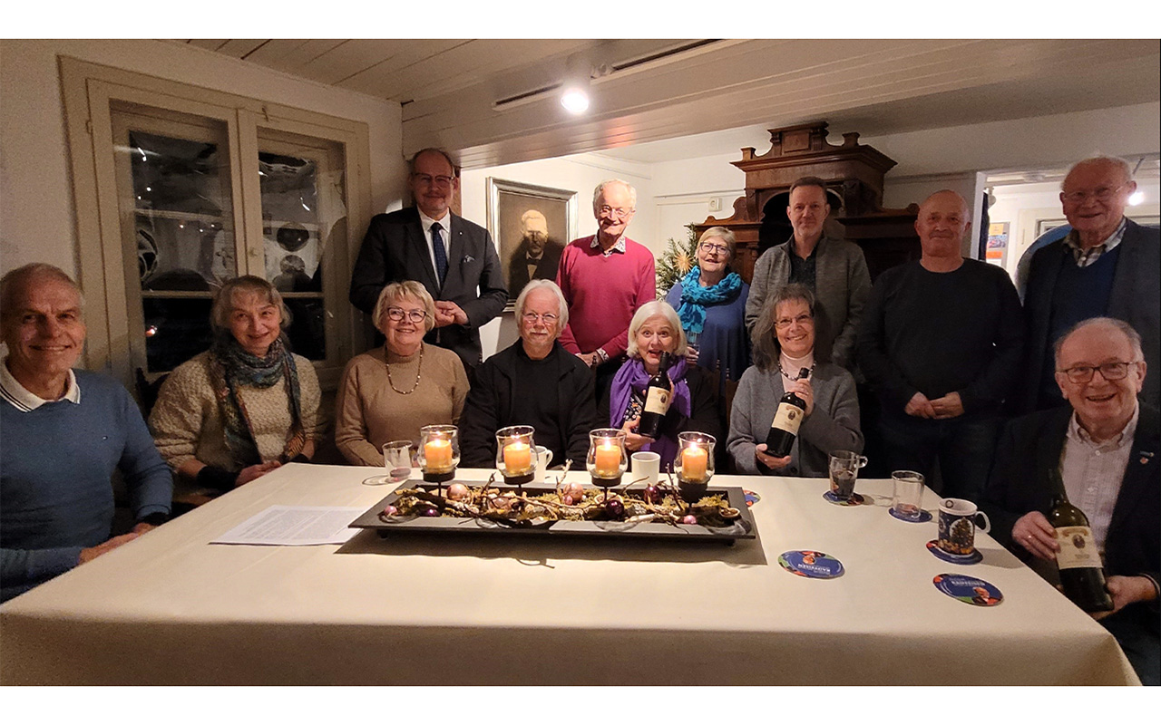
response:
[[[616,371],[608,398],[598,408],[608,414],[610,426],[626,432],[625,444],[630,452],[659,454],[662,470],[671,466],[677,456],[677,434],[697,430],[719,441],[722,435],[717,382],[708,370],[686,363],[685,351],[685,333],[673,307],[662,300],[641,305],[629,322],[629,358]],[[662,353],[676,360],[669,368],[673,396],[661,437],[655,440],[637,435],[636,428],[644,407],[646,385],[661,368]]]

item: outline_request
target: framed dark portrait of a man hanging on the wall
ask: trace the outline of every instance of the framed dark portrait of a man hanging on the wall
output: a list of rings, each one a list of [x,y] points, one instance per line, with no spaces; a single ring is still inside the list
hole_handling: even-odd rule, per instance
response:
[[[496,244],[509,288],[509,312],[528,281],[556,278],[561,252],[577,237],[577,193],[495,176],[489,176],[485,184],[488,233]],[[535,213],[524,220],[528,212]],[[539,261],[528,259],[526,224],[528,244],[540,248]]]

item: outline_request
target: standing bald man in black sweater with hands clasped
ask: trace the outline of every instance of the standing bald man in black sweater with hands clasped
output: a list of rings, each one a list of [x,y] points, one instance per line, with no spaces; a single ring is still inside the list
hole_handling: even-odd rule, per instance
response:
[[[888,470],[918,471],[979,501],[1019,370],[1024,325],[1003,269],[960,255],[972,224],[950,190],[923,201],[922,258],[882,273],[859,331],[859,367],[882,403]]]

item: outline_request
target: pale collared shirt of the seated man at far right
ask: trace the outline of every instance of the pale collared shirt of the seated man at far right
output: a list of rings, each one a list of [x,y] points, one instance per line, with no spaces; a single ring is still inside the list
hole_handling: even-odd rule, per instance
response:
[[[1088,516],[1089,528],[1093,529],[1093,537],[1101,551],[1104,551],[1112,509],[1120,494],[1125,469],[1128,467],[1139,414],[1140,405],[1133,411],[1133,416],[1124,429],[1102,443],[1094,441],[1081,427],[1076,413],[1068,419],[1065,450],[1060,454],[1060,474],[1065,479],[1065,493],[1068,494],[1069,503]]]

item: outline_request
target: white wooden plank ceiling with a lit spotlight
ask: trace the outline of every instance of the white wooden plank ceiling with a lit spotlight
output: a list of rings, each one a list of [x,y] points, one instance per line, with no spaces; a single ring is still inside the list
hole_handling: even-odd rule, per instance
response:
[[[720,150],[697,138],[633,147],[815,119],[885,135],[1161,95],[1155,39],[179,42],[396,101],[405,155],[444,146],[466,167],[589,151],[656,161]],[[570,57],[596,70],[592,106],[580,117],[547,90]]]

